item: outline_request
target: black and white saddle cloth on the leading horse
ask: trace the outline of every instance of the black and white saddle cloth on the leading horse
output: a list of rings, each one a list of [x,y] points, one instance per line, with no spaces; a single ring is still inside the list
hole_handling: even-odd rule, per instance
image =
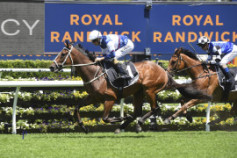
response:
[[[127,73],[131,77],[130,79],[125,80],[118,78],[118,74],[115,71],[113,64],[110,62],[104,62],[104,68],[105,73],[107,75],[107,79],[110,84],[116,89],[127,88],[136,83],[139,78],[137,69],[135,68],[132,62],[129,61],[127,63],[124,63],[123,66],[126,66]]]

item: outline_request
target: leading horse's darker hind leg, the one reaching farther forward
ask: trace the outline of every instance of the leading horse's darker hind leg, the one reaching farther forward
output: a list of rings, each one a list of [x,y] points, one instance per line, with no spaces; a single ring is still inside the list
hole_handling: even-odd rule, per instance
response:
[[[143,91],[140,90],[133,95],[133,105],[134,105],[134,114],[133,116],[128,115],[125,118],[124,123],[120,125],[118,129],[115,130],[115,133],[120,133],[121,130],[124,130],[131,122],[133,122],[137,117],[142,115],[142,105],[143,105]]]

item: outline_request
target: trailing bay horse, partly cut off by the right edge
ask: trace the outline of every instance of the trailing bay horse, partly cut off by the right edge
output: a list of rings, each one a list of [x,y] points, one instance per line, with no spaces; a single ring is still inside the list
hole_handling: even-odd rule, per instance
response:
[[[186,71],[191,77],[192,82],[196,85],[196,88],[207,92],[212,96],[212,102],[226,102],[223,100],[224,90],[219,85],[218,75],[215,65],[203,64],[195,53],[184,49],[178,48],[169,60],[168,72],[176,73]],[[237,114],[237,93],[231,91],[228,95],[227,102],[233,103],[230,115],[235,116]],[[187,109],[199,103],[206,102],[203,99],[191,99],[184,103],[183,106],[172,116],[165,120],[165,123],[170,123],[170,120],[175,119],[180,113],[185,113]],[[220,119],[211,122],[211,124],[220,122]]]

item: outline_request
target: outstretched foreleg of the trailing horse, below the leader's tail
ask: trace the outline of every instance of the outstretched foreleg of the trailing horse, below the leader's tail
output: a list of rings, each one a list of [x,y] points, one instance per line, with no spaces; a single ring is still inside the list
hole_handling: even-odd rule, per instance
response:
[[[193,107],[194,105],[203,102],[202,100],[199,99],[192,99],[190,101],[188,101],[186,104],[184,104],[176,113],[174,113],[173,115],[171,115],[170,117],[166,118],[164,123],[165,124],[169,124],[171,120],[174,120],[176,117],[178,117],[180,115],[180,113],[183,113],[184,111],[186,111],[187,109]]]

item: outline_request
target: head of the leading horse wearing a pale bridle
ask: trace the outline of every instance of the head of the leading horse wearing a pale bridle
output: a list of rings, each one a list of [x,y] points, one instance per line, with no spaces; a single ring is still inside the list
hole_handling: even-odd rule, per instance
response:
[[[65,47],[58,53],[54,62],[49,67],[52,72],[60,71],[64,65],[73,65],[73,45],[68,42],[65,42],[64,45]]]

